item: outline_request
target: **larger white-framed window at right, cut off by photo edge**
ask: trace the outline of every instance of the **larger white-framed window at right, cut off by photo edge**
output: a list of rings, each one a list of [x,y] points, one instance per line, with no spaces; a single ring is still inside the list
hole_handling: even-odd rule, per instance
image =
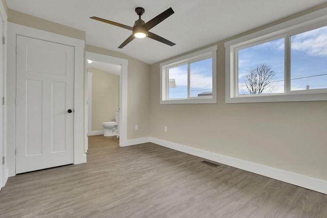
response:
[[[226,103],[326,101],[326,11],[226,42]]]

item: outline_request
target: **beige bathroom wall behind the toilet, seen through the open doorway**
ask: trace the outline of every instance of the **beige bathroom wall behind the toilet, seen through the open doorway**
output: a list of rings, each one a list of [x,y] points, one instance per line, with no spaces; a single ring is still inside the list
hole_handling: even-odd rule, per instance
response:
[[[91,130],[103,130],[102,123],[115,121],[119,110],[119,76],[92,67],[88,72],[92,72]]]

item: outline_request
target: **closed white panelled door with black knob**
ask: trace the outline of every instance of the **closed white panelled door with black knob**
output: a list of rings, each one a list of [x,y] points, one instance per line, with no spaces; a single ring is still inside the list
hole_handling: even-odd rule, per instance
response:
[[[16,47],[16,174],[73,163],[74,47],[20,35]]]

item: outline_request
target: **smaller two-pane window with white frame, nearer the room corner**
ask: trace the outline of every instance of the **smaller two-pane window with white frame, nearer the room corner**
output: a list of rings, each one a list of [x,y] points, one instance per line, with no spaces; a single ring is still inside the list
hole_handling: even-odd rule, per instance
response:
[[[216,103],[217,46],[160,64],[161,104]]]

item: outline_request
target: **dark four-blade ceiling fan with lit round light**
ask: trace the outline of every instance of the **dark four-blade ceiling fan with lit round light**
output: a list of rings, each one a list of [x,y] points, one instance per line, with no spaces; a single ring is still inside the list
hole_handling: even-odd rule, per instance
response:
[[[156,26],[158,23],[160,23],[161,21],[165,20],[167,17],[169,17],[170,15],[172,15],[174,13],[172,8],[167,9],[166,11],[162,12],[161,14],[157,15],[156,17],[154,17],[153,19],[151,19],[148,22],[144,22],[141,19],[141,16],[144,14],[145,10],[144,8],[141,7],[137,7],[135,8],[135,12],[138,15],[138,20],[135,21],[134,26],[133,27],[129,27],[126,25],[123,25],[121,23],[118,22],[113,22],[110,20],[106,20],[106,19],[102,19],[99,17],[90,17],[91,19],[95,19],[95,20],[99,20],[102,22],[106,22],[109,23],[111,25],[117,26],[117,27],[122,27],[125,28],[127,30],[131,30],[133,31],[133,34],[130,35],[130,37],[128,37],[118,48],[122,49],[125,45],[127,45],[129,42],[131,42],[133,39],[136,38],[144,38],[144,37],[149,37],[151,39],[157,40],[159,42],[168,44],[170,46],[175,45],[174,42],[171,42],[165,38],[162,38],[161,36],[158,36],[154,33],[149,32],[150,29],[152,29],[154,26]]]

